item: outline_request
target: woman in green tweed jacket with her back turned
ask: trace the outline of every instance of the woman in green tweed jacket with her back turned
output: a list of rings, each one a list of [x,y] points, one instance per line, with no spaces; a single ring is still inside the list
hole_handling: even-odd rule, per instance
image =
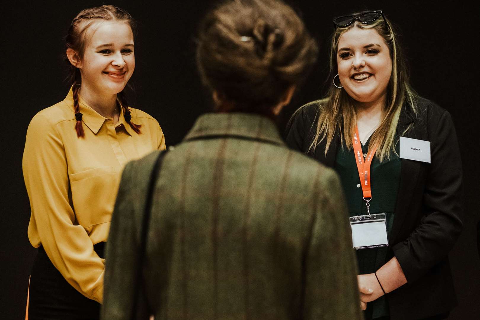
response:
[[[132,319],[143,308],[140,319],[361,318],[338,178],[289,150],[275,124],[316,55],[281,1],[224,1],[204,17],[196,58],[215,112],[161,154],[145,215],[162,158],[125,167],[103,319]],[[137,292],[146,303],[135,309]]]

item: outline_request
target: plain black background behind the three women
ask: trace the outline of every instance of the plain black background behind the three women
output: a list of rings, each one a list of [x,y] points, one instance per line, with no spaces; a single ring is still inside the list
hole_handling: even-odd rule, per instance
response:
[[[413,87],[447,109],[456,125],[464,168],[465,219],[463,233],[450,253],[459,306],[449,319],[478,319],[480,174],[479,135],[474,131],[479,120],[478,7],[461,1],[289,3],[301,12],[318,40],[320,55],[307,82],[284,108],[282,126],[296,108],[324,94],[332,17],[357,9],[381,9],[401,28]],[[1,319],[23,319],[28,276],[36,254],[27,238],[30,206],[22,176],[25,132],[36,112],[68,93],[69,85],[63,81],[62,37],[73,17],[101,4],[120,6],[140,23],[132,77],[135,94],[129,94],[130,104],[158,120],[168,145],[180,142],[194,119],[209,110],[208,95],[195,69],[194,34],[210,1],[17,1],[1,8],[0,121],[5,125],[1,134],[5,147],[1,152]]]

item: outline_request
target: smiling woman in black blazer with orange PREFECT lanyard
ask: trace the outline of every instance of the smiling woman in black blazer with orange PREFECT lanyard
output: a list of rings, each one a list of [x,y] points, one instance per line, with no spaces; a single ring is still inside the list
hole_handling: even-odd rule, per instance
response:
[[[452,119],[410,87],[381,11],[334,23],[335,77],[326,98],[294,114],[287,142],[340,175],[365,318],[444,319],[456,305],[447,254],[462,228]],[[358,233],[372,221],[381,227]]]

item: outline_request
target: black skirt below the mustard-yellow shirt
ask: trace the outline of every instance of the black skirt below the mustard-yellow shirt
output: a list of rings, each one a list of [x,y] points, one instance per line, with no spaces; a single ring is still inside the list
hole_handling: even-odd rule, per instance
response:
[[[94,246],[100,258],[103,258],[104,244]],[[40,246],[30,277],[28,319],[96,320],[99,313],[100,304],[73,288]]]

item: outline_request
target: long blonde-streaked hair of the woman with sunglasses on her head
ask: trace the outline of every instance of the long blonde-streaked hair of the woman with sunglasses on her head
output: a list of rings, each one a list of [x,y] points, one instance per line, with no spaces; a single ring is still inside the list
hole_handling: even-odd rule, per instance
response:
[[[342,145],[345,144],[348,149],[352,148],[351,137],[354,134],[357,124],[354,107],[355,100],[351,98],[344,89],[338,89],[333,84],[333,76],[337,73],[336,55],[338,41],[340,36],[352,28],[375,29],[378,34],[383,37],[389,49],[390,58],[392,59],[392,74],[387,85],[387,98],[383,108],[383,118],[377,130],[372,134],[369,144],[370,149],[377,147],[375,155],[380,161],[383,161],[384,159],[389,159],[392,152],[396,154],[396,127],[402,107],[405,103],[408,103],[415,113],[417,110],[415,101],[418,98],[418,95],[411,88],[408,81],[407,63],[398,44],[395,28],[383,17],[379,17],[371,24],[360,24],[356,21],[348,27],[337,27],[333,33],[331,37],[329,76],[329,79],[332,79],[332,81],[330,81],[327,96],[302,106],[316,105],[319,108],[316,133],[308,151],[314,150],[320,142],[325,140],[326,154],[337,132],[340,134]],[[300,107],[300,109],[302,107]],[[408,129],[409,128],[407,128],[407,130]]]

